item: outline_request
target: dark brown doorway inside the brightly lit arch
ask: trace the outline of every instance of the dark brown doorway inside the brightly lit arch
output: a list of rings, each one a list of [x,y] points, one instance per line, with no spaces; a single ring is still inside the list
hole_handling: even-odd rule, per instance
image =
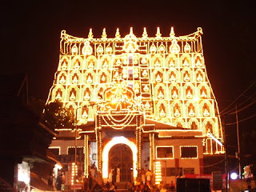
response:
[[[126,144],[116,144],[109,152],[109,170],[114,167],[120,169],[120,181],[128,182],[132,179],[133,154]]]

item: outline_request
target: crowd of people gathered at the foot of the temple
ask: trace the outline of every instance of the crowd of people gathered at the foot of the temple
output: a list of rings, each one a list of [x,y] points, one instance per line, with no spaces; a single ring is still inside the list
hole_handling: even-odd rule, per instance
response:
[[[90,172],[88,178],[84,178],[82,191],[90,192],[115,192],[118,190],[118,183],[120,182],[120,168],[114,167],[110,169],[110,174],[106,183],[102,181],[101,174],[98,174],[97,167],[95,163],[90,166]],[[166,191],[175,191],[175,186],[173,182],[170,182],[169,185],[165,185],[160,182],[159,185],[154,185],[153,174],[150,170],[141,170],[138,173],[137,181],[135,182],[126,182],[126,188],[128,192],[166,192]],[[65,174],[63,172],[58,173],[58,177],[55,182],[52,182],[54,190],[65,190]],[[54,185],[55,184],[55,185]]]

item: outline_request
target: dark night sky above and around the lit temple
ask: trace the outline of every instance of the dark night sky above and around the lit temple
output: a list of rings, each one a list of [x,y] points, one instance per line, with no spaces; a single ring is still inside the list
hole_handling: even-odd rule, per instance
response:
[[[174,26],[179,36],[201,26],[206,70],[223,110],[255,82],[256,14],[252,2],[6,1],[0,8],[1,74],[27,73],[30,95],[46,100],[58,67],[61,30],[86,38],[92,28],[94,38],[100,38],[106,27],[108,37],[114,38],[117,27],[123,37],[133,26],[139,37],[143,27],[149,36],[155,36],[157,26],[162,36],[169,36]],[[255,86],[252,91],[256,92]],[[239,115],[246,118],[255,113],[255,107],[249,110]]]

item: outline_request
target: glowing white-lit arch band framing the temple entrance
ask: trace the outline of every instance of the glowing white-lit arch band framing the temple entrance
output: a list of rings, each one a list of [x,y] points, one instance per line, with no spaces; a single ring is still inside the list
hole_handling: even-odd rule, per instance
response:
[[[112,138],[110,140],[110,142],[108,142],[106,144],[106,146],[104,147],[104,149],[102,151],[102,178],[104,179],[104,181],[107,180],[108,175],[109,175],[109,167],[110,167],[109,163],[113,163],[112,160],[110,162],[110,159],[109,159],[109,154],[111,155],[110,150],[112,150],[111,148],[116,145],[118,147],[118,144],[125,144],[125,145],[123,145],[123,148],[119,147],[120,150],[127,150],[126,147],[130,148],[130,151],[132,154],[131,155],[132,156],[132,167],[130,167],[130,168],[133,168],[133,177],[137,178],[137,174],[138,174],[137,167],[136,167],[137,159],[138,159],[137,158],[137,153],[138,153],[137,146],[134,144],[134,142],[131,142],[129,139],[127,139],[125,137],[115,137],[115,138]],[[132,178],[131,180],[133,180],[134,178]]]

